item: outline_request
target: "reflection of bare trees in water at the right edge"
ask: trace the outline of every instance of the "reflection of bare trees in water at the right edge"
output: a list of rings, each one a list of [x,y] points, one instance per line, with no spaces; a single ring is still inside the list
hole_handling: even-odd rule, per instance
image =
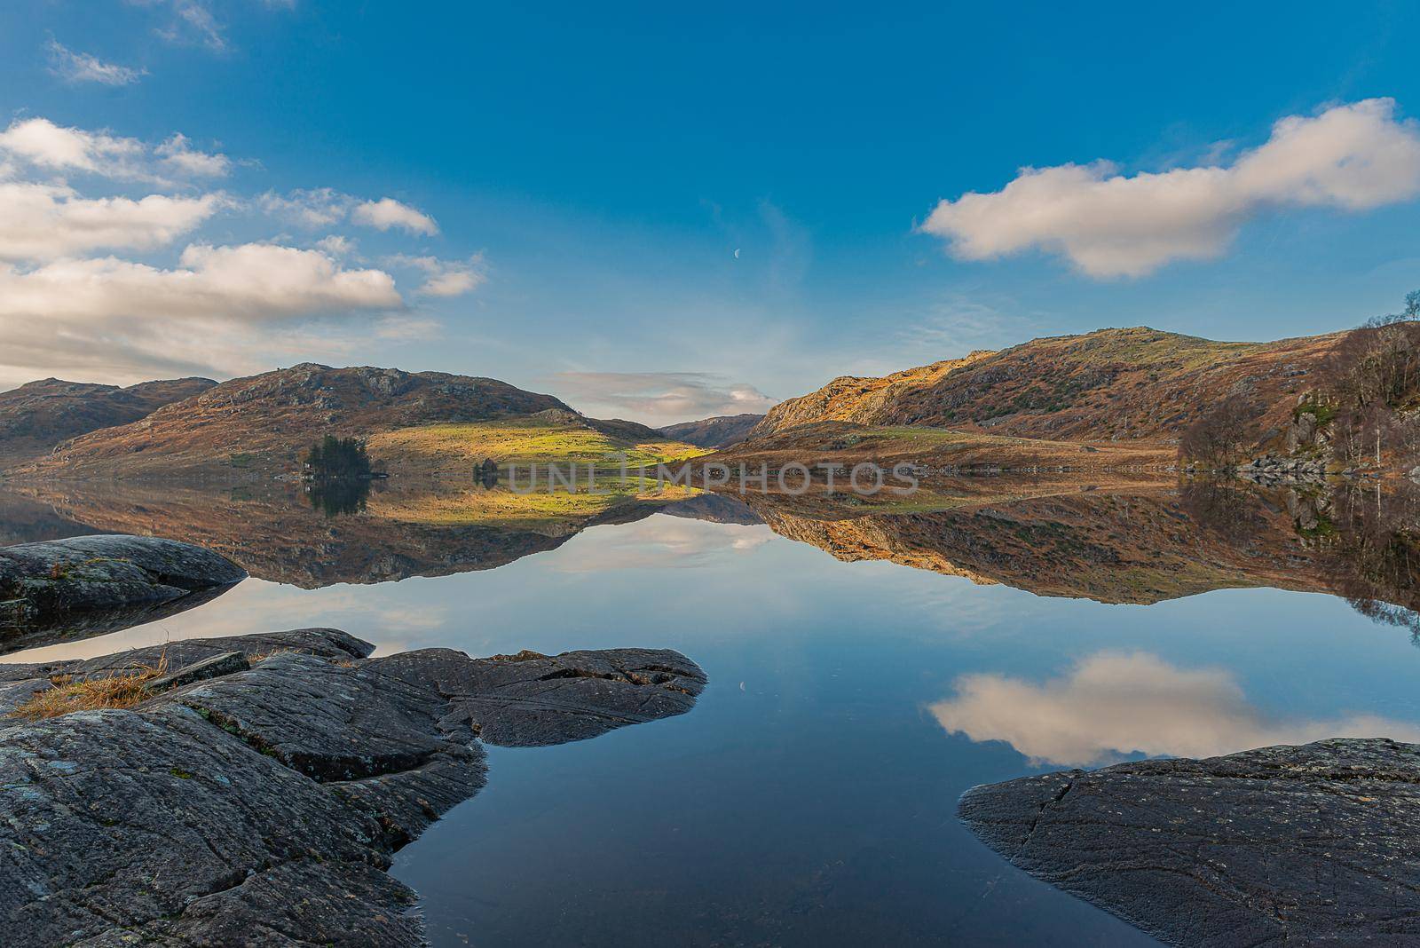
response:
[[[1322,566],[1356,612],[1420,639],[1420,488],[1348,484],[1329,502]]]

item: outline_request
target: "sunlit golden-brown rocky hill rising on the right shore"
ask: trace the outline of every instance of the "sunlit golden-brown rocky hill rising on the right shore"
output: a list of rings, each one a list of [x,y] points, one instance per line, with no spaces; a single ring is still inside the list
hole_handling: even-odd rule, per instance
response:
[[[1340,338],[1213,342],[1140,326],[1032,339],[880,379],[834,379],[771,409],[751,439],[853,421],[1172,444],[1230,395],[1267,406],[1264,430],[1278,437],[1306,376]]]

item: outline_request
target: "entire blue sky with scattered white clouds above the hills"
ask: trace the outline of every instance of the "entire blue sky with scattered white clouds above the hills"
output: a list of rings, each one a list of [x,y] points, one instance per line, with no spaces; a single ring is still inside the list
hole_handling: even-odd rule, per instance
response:
[[[1420,288],[1420,9],[0,7],[0,389],[297,362],[655,424]]]

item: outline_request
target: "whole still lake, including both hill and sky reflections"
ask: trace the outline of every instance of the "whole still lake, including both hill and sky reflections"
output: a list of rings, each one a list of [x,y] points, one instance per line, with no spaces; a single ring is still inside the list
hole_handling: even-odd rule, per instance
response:
[[[1410,575],[1386,552],[1400,534],[1375,541],[1369,492],[947,494],[491,527],[413,517],[398,488],[335,517],[281,492],[11,494],[4,542],[155,532],[253,578],[4,660],[335,626],[379,654],[645,646],[699,663],[689,714],[488,749],[487,789],[396,857],[436,945],[1153,944],[987,850],[957,822],[961,792],[1142,756],[1420,741],[1420,649],[1384,606],[1413,605]]]

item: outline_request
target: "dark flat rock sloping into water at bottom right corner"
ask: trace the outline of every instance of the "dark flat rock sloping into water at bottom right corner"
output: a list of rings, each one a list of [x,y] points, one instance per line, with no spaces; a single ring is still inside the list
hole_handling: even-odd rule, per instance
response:
[[[1014,866],[1173,945],[1420,944],[1420,745],[1331,739],[977,786]]]

